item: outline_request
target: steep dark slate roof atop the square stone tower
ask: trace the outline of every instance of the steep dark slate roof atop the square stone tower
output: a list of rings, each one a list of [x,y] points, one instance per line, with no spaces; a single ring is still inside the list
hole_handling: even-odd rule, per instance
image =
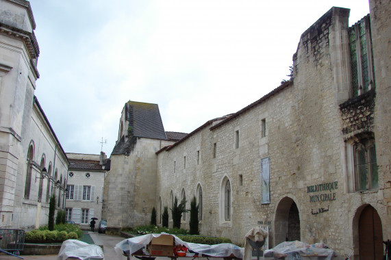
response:
[[[125,113],[134,136],[167,139],[157,104],[128,101],[125,104]]]

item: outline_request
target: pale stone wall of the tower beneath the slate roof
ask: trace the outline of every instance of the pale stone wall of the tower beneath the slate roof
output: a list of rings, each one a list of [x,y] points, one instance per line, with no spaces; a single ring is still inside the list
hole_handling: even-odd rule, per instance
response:
[[[105,177],[102,212],[102,218],[108,219],[109,228],[149,223],[155,203],[155,153],[172,143],[137,138],[129,156],[110,157],[111,169]]]

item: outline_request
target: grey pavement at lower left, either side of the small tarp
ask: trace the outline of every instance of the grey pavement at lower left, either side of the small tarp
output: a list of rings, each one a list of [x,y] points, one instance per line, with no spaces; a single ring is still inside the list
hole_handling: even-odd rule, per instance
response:
[[[114,235],[105,235],[105,234],[99,234],[97,232],[92,233],[91,231],[88,231],[90,234],[92,240],[94,240],[94,244],[96,245],[103,245],[103,254],[105,255],[105,260],[126,260],[127,257],[118,257],[116,252],[114,251],[114,246],[121,242],[123,237],[118,237]],[[57,255],[21,255],[23,259],[25,260],[35,260],[35,259],[42,259],[42,260],[56,260]],[[14,257],[12,255],[7,255],[1,252],[0,260],[16,260],[20,259],[18,257]]]

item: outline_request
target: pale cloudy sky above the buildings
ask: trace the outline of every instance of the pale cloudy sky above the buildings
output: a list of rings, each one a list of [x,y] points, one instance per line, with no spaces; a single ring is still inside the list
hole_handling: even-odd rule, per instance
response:
[[[366,0],[31,0],[36,96],[62,147],[110,156],[125,102],[156,103],[166,131],[190,133],[288,79],[303,31],[332,6]]]

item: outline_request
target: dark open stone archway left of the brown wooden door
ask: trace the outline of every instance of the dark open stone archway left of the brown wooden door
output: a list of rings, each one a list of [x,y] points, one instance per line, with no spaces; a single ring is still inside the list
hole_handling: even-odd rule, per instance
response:
[[[275,215],[275,245],[284,241],[300,240],[299,209],[292,198],[283,198]]]

